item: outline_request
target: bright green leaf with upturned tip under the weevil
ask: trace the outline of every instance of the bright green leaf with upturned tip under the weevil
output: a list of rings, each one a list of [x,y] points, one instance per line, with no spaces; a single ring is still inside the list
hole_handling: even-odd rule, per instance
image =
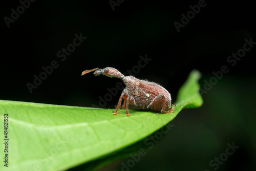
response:
[[[8,154],[8,168],[2,162],[0,170],[61,170],[104,159],[154,133],[185,106],[201,106],[199,78],[198,71],[190,73],[171,114],[131,109],[127,117],[125,110],[115,116],[109,109],[0,100],[2,129],[8,114],[8,135],[4,138],[2,130],[0,143],[1,157]],[[8,139],[8,153],[3,139]]]

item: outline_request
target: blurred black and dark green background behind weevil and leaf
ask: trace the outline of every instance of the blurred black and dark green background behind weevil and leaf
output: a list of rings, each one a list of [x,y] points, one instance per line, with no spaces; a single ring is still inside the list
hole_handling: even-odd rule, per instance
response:
[[[200,109],[184,110],[173,129],[131,170],[214,170],[209,162],[225,153],[227,143],[239,146],[218,170],[253,170],[255,161],[255,48],[236,65],[227,58],[255,38],[255,6],[244,1],[205,1],[206,6],[178,33],[174,22],[199,1],[123,1],[113,11],[109,1],[35,1],[7,26],[19,1],[1,1],[2,45],[0,99],[61,105],[99,105],[117,78],[80,76],[83,70],[113,67],[124,73],[138,65],[140,55],[152,59],[136,74],[158,82],[175,102],[189,72],[200,80],[227,66],[228,73],[203,94]],[[87,37],[64,61],[57,52]],[[255,45],[256,46],[256,45]],[[56,60],[58,67],[30,93],[34,81]],[[104,108],[114,108],[121,91]],[[126,159],[126,160],[129,160]],[[123,160],[125,161],[125,160]],[[121,161],[103,170],[121,170]]]

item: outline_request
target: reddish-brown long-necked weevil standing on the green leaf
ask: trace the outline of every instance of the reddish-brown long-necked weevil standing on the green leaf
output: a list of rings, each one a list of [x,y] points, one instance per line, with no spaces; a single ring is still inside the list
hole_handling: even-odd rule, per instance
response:
[[[95,76],[105,75],[108,77],[116,77],[124,82],[126,87],[123,89],[121,97],[119,98],[116,111],[113,111],[114,115],[118,114],[122,99],[124,101],[121,109],[126,108],[126,116],[130,116],[128,110],[129,104],[135,105],[141,109],[154,110],[161,113],[172,113],[176,110],[173,108],[175,104],[172,104],[172,98],[170,97],[169,92],[155,82],[140,80],[131,75],[124,76],[117,69],[111,67],[86,70],[82,72],[82,75],[92,71],[95,71],[93,73]]]

